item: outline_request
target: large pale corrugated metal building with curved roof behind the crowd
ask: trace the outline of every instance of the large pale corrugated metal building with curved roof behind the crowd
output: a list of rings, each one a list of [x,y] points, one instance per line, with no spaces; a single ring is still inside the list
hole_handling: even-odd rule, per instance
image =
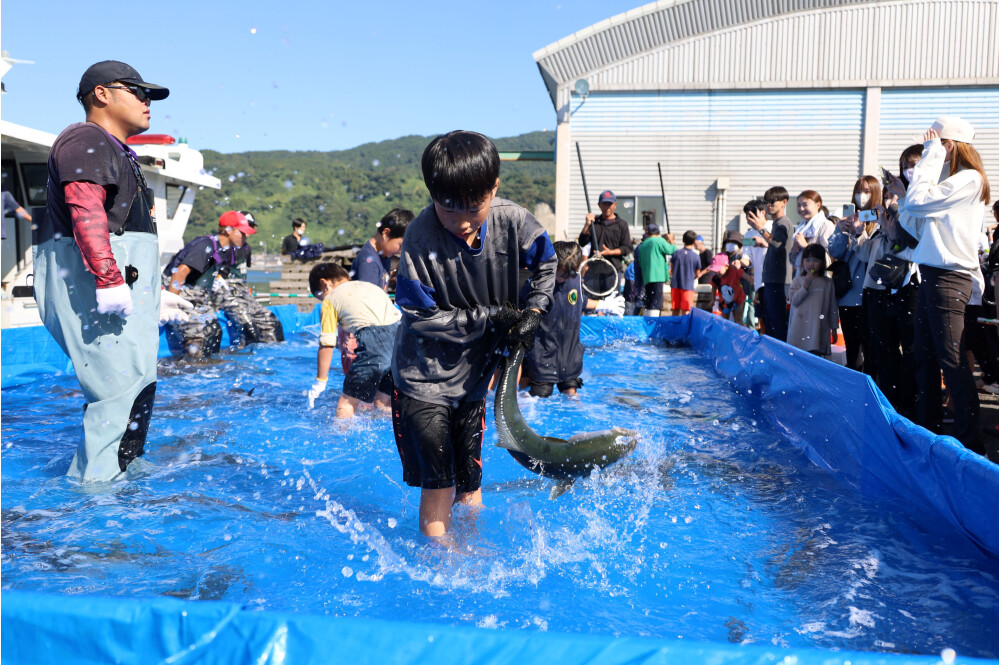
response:
[[[581,161],[593,210],[614,190],[635,238],[643,211],[662,220],[658,163],[678,236],[745,228],[772,185],[839,214],[944,114],[976,127],[998,192],[997,56],[997,0],[661,0],[612,17],[534,54],[558,115],[550,232],[583,225]]]

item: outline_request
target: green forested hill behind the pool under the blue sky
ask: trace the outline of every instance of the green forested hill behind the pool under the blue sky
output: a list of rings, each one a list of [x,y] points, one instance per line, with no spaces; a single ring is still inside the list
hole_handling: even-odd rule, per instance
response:
[[[552,150],[554,132],[496,139],[500,151]],[[249,210],[257,220],[255,248],[277,252],[291,220],[309,223],[313,242],[337,246],[369,238],[375,223],[395,207],[419,212],[430,203],[420,156],[432,137],[404,136],[334,152],[219,153],[203,150],[205,169],[221,190],[195,197],[185,241],[214,232],[226,210]],[[552,162],[502,162],[499,196],[529,210],[539,202],[555,208]]]

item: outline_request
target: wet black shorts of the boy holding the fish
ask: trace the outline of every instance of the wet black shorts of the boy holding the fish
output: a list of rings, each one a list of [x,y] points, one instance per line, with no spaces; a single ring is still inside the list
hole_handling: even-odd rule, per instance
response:
[[[485,428],[486,400],[449,407],[392,389],[392,431],[403,463],[403,482],[411,487],[478,490]]]

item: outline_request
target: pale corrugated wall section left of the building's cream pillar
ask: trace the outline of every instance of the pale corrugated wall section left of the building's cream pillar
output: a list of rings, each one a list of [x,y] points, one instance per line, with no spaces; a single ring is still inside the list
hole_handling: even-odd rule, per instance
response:
[[[772,185],[793,199],[816,189],[839,211],[860,170],[862,111],[861,91],[592,95],[573,116],[571,143],[580,144],[595,212],[603,189],[658,196],[660,162],[671,229],[678,238],[690,228],[708,239],[720,177],[730,181],[729,228],[743,204]],[[575,154],[569,171],[575,237],[586,214]]]

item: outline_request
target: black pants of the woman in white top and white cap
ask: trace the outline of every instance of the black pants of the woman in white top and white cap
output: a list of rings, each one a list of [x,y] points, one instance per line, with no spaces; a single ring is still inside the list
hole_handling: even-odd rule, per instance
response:
[[[955,412],[952,436],[966,448],[983,452],[979,431],[979,395],[965,360],[965,307],[972,277],[954,270],[920,266],[913,353],[917,364],[917,424],[938,428],[941,389],[938,369],[951,393]]]

